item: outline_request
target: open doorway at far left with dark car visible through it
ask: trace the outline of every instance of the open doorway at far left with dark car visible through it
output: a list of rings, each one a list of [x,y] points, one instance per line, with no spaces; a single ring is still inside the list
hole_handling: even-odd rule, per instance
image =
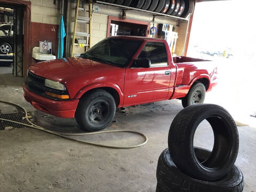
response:
[[[0,4],[0,71],[23,76],[23,9]]]

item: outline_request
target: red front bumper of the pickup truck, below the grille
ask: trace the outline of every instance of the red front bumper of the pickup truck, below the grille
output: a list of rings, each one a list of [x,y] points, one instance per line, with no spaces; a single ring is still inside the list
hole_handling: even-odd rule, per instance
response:
[[[66,101],[54,101],[44,98],[29,91],[25,85],[23,85],[24,98],[30,102],[33,107],[45,113],[62,117],[62,118],[74,118],[76,108],[78,105],[78,99],[70,99]]]

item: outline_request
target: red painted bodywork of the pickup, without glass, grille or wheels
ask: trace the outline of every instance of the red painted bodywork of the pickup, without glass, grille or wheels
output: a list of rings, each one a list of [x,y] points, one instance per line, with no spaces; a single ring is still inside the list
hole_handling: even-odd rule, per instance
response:
[[[217,83],[217,67],[211,61],[194,58],[172,58],[166,41],[145,37],[112,37],[144,41],[126,68],[110,66],[83,58],[68,58],[37,63],[30,71],[38,76],[65,84],[70,100],[53,101],[29,92],[24,86],[28,102],[46,113],[73,118],[79,99],[95,88],[111,87],[119,94],[118,107],[153,101],[185,97],[198,79],[209,81],[210,91]],[[163,42],[166,45],[168,66],[132,68],[146,42]],[[165,75],[170,71],[170,75]]]

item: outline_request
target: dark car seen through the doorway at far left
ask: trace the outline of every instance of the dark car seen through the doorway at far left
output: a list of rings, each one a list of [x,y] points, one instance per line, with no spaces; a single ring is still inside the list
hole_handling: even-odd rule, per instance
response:
[[[13,51],[13,25],[0,25],[0,54],[8,54]]]

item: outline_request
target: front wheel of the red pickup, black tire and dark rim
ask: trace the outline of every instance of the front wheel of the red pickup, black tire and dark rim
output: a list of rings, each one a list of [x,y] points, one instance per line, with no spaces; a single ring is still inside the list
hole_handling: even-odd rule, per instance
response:
[[[115,111],[116,103],[112,95],[99,89],[87,93],[79,101],[75,118],[82,130],[100,131],[110,125]]]

